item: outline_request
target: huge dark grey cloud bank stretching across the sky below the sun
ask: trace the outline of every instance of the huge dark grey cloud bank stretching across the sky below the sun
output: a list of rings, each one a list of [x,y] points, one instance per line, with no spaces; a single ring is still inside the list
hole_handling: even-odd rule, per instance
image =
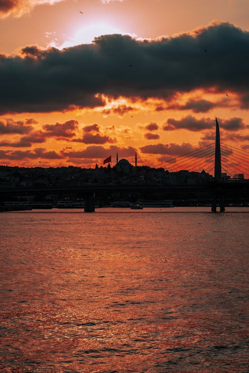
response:
[[[104,104],[101,93],[171,99],[201,88],[238,93],[249,105],[249,32],[229,23],[161,40],[105,35],[88,45],[28,46],[22,53],[0,56],[0,113],[93,107]]]

